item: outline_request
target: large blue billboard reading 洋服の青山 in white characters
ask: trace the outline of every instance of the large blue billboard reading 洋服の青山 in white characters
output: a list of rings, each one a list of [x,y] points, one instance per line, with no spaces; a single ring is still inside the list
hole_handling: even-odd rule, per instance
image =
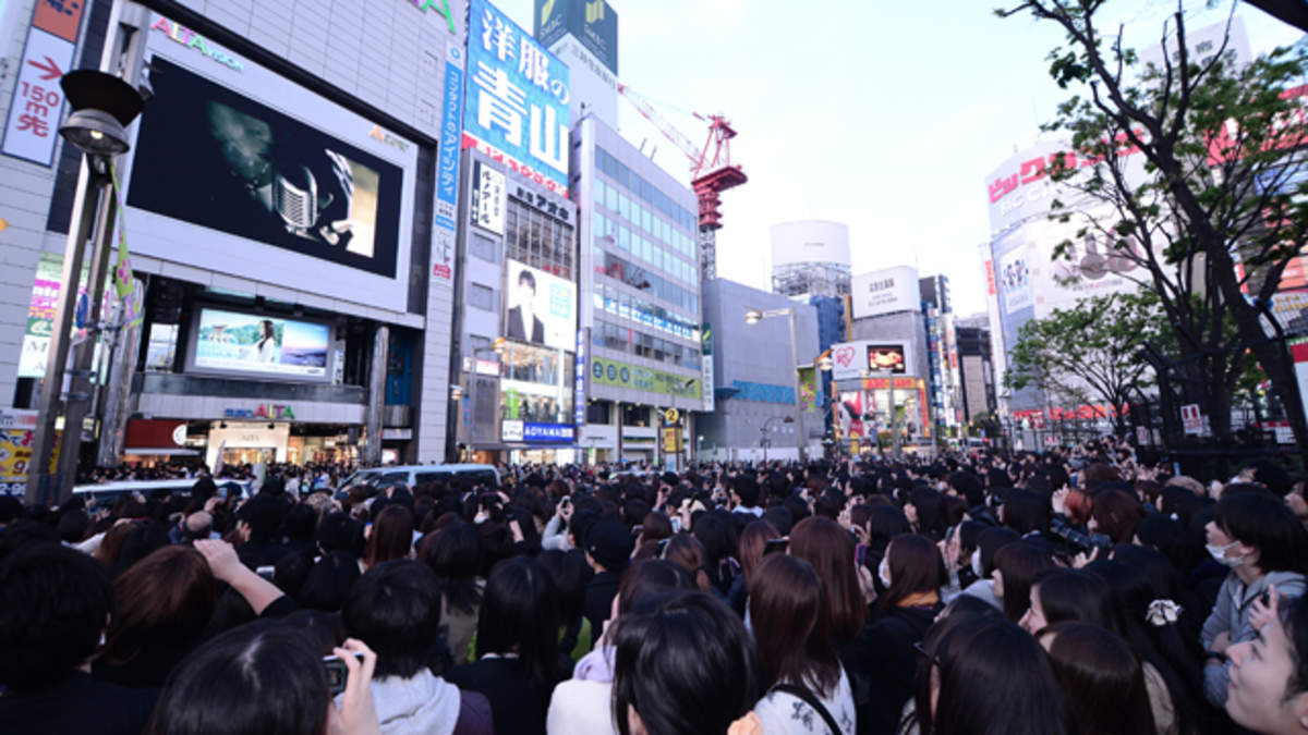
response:
[[[568,196],[568,67],[485,0],[468,7],[463,148]]]

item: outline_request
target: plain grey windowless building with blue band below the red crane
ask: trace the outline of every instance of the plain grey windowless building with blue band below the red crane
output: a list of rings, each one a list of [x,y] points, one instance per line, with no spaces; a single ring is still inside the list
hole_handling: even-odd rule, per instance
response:
[[[789,315],[749,324],[746,322],[749,310],[794,310],[798,337],[794,353]],[[712,356],[717,409],[698,421],[700,458],[795,459],[802,441],[807,456],[820,456],[825,402],[821,395],[812,399],[797,395],[795,373],[790,368],[791,360],[812,366],[821,352],[818,309],[714,279],[704,285],[704,318],[713,324],[721,349]],[[797,402],[804,402],[802,421]]]

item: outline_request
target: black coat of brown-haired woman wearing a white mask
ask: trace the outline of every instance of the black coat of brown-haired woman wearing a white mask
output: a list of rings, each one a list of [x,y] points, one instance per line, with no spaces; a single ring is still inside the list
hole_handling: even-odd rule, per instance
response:
[[[913,696],[922,641],[943,606],[896,607],[863,625],[841,646],[849,684],[854,689],[859,735],[893,735],[904,704]]]

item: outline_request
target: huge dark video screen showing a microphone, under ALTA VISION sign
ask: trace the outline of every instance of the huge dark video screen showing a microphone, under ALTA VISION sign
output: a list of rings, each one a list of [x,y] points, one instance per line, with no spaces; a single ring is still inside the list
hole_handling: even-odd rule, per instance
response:
[[[398,166],[161,56],[150,84],[129,205],[395,277]]]

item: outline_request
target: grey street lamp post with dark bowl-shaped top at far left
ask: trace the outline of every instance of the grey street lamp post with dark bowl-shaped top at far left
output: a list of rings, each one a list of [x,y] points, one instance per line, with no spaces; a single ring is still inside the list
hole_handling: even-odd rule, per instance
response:
[[[128,75],[131,76],[131,73]],[[127,81],[105,72],[80,69],[59,80],[64,97],[73,112],[59,128],[59,135],[84,153],[77,179],[73,211],[78,213],[76,226],[68,231],[64,246],[63,288],[55,307],[54,333],[46,360],[46,375],[41,383],[38,424],[33,436],[31,463],[27,470],[26,502],[44,505],[54,490],[54,501],[64,502],[72,493],[81,454],[82,420],[92,400],[92,360],[95,335],[99,333],[99,301],[109,272],[109,239],[112,233],[115,197],[111,194],[114,158],[131,149],[127,126],[140,115],[145,101]],[[93,230],[94,228],[94,230]],[[81,281],[82,258],[86,239],[92,243],[90,273],[86,279],[88,339],[73,350],[73,366],[68,370],[68,399],[61,399],[64,368],[68,362],[73,314],[77,310],[77,284]],[[50,475],[50,460],[55,449],[55,424],[63,412],[64,432],[59,453],[59,467]]]

